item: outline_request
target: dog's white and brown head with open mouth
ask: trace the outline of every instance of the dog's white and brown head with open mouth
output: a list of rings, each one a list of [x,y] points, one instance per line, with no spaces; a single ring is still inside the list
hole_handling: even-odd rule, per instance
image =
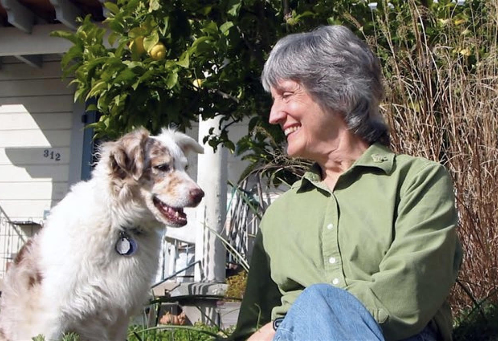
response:
[[[186,153],[203,152],[193,138],[163,129],[149,136],[138,129],[112,142],[109,169],[117,191],[137,192],[155,219],[171,227],[187,224],[184,207],[197,206],[204,192],[186,173]],[[126,190],[125,190],[126,192]]]

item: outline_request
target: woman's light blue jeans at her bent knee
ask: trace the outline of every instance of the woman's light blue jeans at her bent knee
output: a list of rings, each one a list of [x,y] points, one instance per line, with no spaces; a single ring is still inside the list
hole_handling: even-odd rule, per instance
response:
[[[306,288],[292,304],[274,341],[384,341],[382,330],[352,294],[329,284]],[[436,341],[425,328],[403,341]]]

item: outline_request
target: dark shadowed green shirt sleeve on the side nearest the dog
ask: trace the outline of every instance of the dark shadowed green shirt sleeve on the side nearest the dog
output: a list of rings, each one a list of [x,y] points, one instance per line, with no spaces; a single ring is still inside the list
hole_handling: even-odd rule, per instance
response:
[[[280,304],[280,297],[280,291],[270,277],[269,259],[259,230],[252,248],[247,286],[237,326],[229,340],[246,340],[258,328],[270,322],[271,310]]]

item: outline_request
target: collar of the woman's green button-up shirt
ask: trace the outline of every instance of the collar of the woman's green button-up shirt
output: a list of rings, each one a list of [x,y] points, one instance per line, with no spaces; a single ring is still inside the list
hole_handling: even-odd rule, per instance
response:
[[[380,143],[373,143],[363,155],[356,160],[353,165],[346,170],[341,177],[353,171],[357,167],[370,167],[381,169],[385,174],[389,174],[394,167],[394,152]],[[297,181],[292,187],[304,189],[307,184],[312,183],[317,187],[321,186],[322,172],[318,163],[313,164],[311,168],[304,173],[302,180]]]

